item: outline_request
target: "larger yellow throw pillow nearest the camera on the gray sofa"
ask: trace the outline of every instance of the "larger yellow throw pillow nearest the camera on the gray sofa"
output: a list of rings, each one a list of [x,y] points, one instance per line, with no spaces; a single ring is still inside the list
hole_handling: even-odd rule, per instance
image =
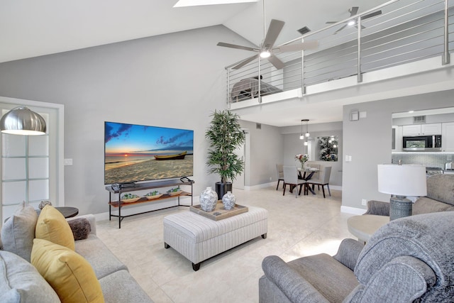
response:
[[[48,281],[63,303],[104,302],[101,285],[92,266],[70,248],[35,239],[31,264]]]

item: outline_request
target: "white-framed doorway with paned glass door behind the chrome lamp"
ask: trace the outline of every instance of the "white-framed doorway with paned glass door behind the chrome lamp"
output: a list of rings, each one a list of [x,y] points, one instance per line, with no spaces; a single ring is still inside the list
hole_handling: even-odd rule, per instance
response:
[[[1,116],[25,105],[45,119],[43,136],[1,133],[0,218],[4,222],[22,202],[38,209],[43,200],[65,205],[63,182],[63,116],[61,104],[0,97]],[[0,223],[1,226],[1,223]]]

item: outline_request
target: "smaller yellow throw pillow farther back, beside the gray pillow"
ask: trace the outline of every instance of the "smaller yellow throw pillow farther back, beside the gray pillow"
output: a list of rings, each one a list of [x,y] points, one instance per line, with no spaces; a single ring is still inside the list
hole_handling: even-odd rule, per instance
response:
[[[35,238],[44,239],[74,250],[74,235],[65,217],[51,205],[46,205],[38,216]]]

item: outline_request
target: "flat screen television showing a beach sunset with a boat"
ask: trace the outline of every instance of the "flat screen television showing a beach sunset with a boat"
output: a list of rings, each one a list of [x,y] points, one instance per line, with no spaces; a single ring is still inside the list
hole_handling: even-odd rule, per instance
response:
[[[189,177],[194,131],[104,122],[104,184]]]

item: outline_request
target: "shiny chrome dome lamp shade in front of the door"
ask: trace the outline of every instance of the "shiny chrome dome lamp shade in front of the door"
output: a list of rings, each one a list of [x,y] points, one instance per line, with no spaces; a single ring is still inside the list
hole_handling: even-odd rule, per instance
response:
[[[18,106],[4,114],[0,120],[0,131],[13,135],[44,135],[46,130],[42,116],[26,106]]]

